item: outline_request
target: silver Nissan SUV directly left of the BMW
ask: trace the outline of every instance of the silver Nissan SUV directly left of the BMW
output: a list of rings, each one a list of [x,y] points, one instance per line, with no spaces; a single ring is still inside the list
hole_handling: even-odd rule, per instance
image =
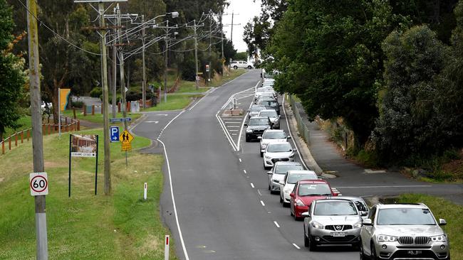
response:
[[[314,200],[303,212],[304,246],[315,251],[318,244],[360,244],[362,217],[351,200]]]

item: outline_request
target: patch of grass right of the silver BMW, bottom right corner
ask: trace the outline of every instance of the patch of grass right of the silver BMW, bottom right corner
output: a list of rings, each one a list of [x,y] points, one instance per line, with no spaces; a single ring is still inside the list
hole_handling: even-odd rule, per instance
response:
[[[447,225],[443,227],[450,241],[452,259],[463,259],[463,206],[456,205],[441,197],[423,194],[400,195],[398,202],[423,202],[430,207],[437,219],[444,218]]]

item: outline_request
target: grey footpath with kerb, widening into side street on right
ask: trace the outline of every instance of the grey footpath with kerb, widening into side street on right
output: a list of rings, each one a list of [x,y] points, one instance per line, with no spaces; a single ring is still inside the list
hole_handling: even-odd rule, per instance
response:
[[[397,170],[371,170],[363,168],[344,158],[338,147],[329,140],[326,131],[316,121],[308,121],[308,116],[300,102],[294,102],[301,121],[308,130],[308,145],[298,134],[296,117],[289,99],[285,99],[285,109],[293,138],[298,151],[311,170],[321,178],[327,178],[332,186],[338,187],[344,195],[399,195],[402,193],[423,193],[445,197],[463,205],[463,185],[453,183],[426,183],[407,178]]]

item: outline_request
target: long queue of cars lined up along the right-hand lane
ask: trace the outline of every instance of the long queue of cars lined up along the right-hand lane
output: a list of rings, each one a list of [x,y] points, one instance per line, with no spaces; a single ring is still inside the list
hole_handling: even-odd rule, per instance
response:
[[[274,80],[256,88],[248,110],[246,142],[259,141],[259,153],[269,176],[269,192],[279,195],[295,220],[303,220],[304,246],[350,245],[360,259],[450,259],[447,234],[424,204],[376,204],[338,190],[294,160],[296,148],[280,129],[281,105]]]

